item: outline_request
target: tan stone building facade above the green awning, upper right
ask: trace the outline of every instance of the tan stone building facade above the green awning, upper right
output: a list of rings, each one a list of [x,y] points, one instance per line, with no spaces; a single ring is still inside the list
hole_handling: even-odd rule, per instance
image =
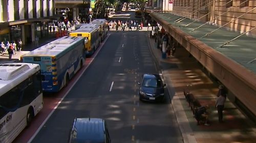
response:
[[[256,26],[255,6],[255,0],[175,0],[173,13],[256,36],[256,29],[251,30]]]

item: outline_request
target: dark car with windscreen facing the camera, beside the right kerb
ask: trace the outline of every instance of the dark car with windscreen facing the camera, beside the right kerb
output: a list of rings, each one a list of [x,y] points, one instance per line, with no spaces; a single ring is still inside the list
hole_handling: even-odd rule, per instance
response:
[[[139,87],[139,99],[142,101],[163,101],[164,87],[163,81],[159,74],[143,74]]]

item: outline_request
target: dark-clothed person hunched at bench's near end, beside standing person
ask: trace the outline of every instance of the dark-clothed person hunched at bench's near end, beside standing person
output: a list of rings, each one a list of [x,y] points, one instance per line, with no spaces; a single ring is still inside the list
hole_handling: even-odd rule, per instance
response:
[[[195,111],[195,118],[197,120],[197,125],[200,125],[201,122],[204,122],[205,126],[209,126],[210,124],[208,123],[208,117],[209,117],[209,113],[207,111],[207,109],[209,109],[209,106],[201,106],[198,107]]]

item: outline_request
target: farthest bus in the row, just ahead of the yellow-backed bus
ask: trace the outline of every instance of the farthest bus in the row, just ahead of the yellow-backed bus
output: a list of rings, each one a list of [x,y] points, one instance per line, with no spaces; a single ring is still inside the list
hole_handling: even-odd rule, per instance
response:
[[[108,34],[108,21],[106,19],[94,19],[91,23],[99,25],[99,36],[100,40],[103,41]]]

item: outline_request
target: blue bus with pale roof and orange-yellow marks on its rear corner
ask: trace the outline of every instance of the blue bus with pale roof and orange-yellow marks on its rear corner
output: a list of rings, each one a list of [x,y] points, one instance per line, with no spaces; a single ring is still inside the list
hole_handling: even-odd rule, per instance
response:
[[[40,65],[43,91],[58,92],[85,62],[84,38],[65,36],[22,55],[21,59]]]

